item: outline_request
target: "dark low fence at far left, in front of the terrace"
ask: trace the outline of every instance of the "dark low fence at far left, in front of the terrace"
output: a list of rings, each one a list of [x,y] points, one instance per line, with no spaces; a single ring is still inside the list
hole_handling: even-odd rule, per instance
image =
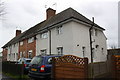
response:
[[[24,74],[24,65],[23,64],[15,64],[9,61],[2,62],[2,71],[4,73],[10,73],[12,75],[18,75],[22,77]]]

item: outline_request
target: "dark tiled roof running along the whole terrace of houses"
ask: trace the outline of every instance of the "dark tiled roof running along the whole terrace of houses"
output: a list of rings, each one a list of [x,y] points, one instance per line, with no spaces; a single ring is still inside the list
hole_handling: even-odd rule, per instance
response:
[[[49,28],[52,27],[53,25],[56,25],[60,22],[64,22],[66,20],[69,19],[76,19],[79,20],[81,22],[84,22],[86,24],[92,25],[93,22],[89,19],[87,19],[85,16],[83,16],[82,14],[78,13],[77,11],[75,11],[72,8],[68,8],[58,14],[56,14],[55,16],[42,21],[41,23],[31,27],[30,29],[26,30],[25,32],[21,33],[20,35],[14,37],[12,40],[10,40],[7,44],[5,44],[3,46],[3,48],[14,44],[16,42],[19,42],[20,40],[23,40],[25,38],[29,38],[31,36],[34,36],[37,32],[40,32],[41,30],[45,29],[45,28]],[[94,24],[95,27],[100,28],[102,30],[105,30],[104,28],[98,26],[97,24]]]

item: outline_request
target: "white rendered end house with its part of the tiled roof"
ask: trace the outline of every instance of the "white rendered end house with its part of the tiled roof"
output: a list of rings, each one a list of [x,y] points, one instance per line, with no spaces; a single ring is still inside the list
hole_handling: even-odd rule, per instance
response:
[[[92,22],[72,8],[68,8],[48,19],[54,19],[55,22],[53,21],[52,24],[46,26],[46,30],[41,29],[41,32],[36,35],[36,55],[72,54],[79,57],[88,57],[90,62],[89,29]],[[104,29],[97,24],[93,26],[91,31],[94,62],[106,60],[107,46],[103,31]]]

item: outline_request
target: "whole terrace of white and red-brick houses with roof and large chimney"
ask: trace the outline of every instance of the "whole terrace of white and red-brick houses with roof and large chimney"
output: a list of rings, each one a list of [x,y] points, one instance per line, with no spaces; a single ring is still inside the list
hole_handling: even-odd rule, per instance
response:
[[[107,46],[104,30],[95,23],[93,25],[91,20],[72,8],[58,14],[56,10],[48,8],[46,20],[20,33],[4,45],[3,50],[7,49],[7,60],[20,57],[32,58],[40,54],[72,54],[88,57],[90,61],[91,33],[93,61],[105,61]],[[14,44],[16,44],[16,52],[15,50],[12,52]]]

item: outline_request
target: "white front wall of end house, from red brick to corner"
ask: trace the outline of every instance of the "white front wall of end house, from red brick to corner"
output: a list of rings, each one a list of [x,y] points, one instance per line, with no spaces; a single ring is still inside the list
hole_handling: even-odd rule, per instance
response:
[[[36,40],[36,55],[41,54],[40,50],[46,49],[47,54],[49,51],[49,31],[48,38],[41,39],[40,34],[38,34]],[[62,25],[62,33],[57,34],[56,28],[51,29],[51,54],[57,54],[57,47],[63,47],[64,54],[73,53],[73,35],[71,23],[66,23]]]

